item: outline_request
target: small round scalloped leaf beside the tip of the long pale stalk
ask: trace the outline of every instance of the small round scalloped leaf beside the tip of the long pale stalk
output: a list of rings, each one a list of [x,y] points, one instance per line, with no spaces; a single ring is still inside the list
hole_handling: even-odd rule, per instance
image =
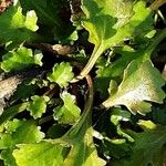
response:
[[[50,82],[58,83],[61,87],[66,87],[69,82],[73,79],[74,73],[69,62],[62,62],[54,64],[52,73],[48,75]]]

